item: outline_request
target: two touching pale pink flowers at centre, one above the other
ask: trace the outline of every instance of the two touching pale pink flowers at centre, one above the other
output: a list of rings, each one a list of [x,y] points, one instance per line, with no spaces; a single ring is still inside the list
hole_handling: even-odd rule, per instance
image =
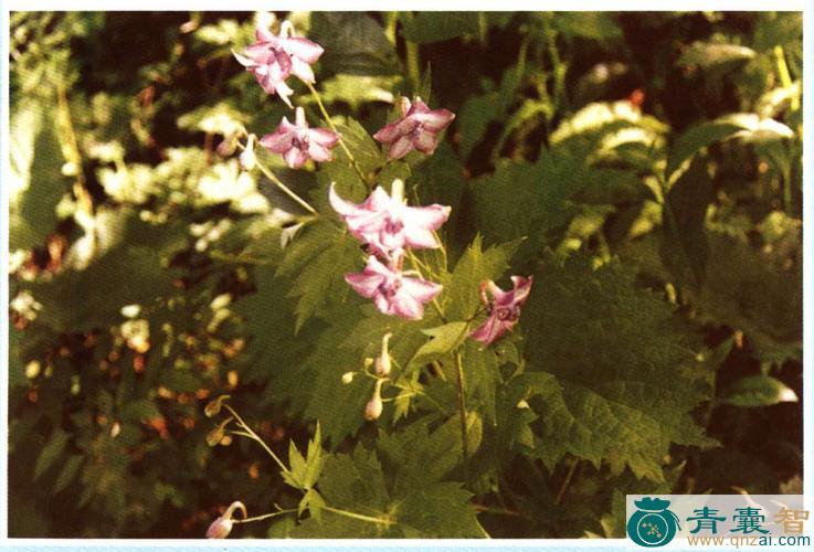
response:
[[[364,269],[346,274],[345,280],[362,297],[373,299],[385,315],[423,318],[424,304],[433,300],[442,286],[404,272],[404,255],[408,247],[438,247],[433,232],[446,222],[451,209],[438,204],[408,206],[401,180],[393,181],[391,194],[379,187],[360,204],[341,199],[331,184],[329,200],[350,234],[370,253]]]

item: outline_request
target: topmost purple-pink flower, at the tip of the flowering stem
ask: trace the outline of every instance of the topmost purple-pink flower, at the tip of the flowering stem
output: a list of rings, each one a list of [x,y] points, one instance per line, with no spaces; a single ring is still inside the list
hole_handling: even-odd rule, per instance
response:
[[[288,96],[294,91],[286,78],[294,74],[304,83],[314,82],[311,64],[323,55],[323,46],[300,36],[294,36],[294,28],[288,21],[281,25],[279,35],[264,26],[255,30],[256,42],[245,49],[245,55],[232,52],[237,61],[251,71],[257,83],[268,94],[277,94],[288,107]]]

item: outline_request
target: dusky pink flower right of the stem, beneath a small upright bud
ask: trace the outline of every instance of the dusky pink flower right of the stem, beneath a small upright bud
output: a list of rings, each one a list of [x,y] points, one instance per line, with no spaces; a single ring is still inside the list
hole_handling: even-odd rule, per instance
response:
[[[454,118],[451,110],[430,109],[419,97],[412,104],[402,98],[401,118],[376,132],[373,138],[390,145],[390,159],[401,159],[414,149],[429,155],[438,146],[438,132]]]

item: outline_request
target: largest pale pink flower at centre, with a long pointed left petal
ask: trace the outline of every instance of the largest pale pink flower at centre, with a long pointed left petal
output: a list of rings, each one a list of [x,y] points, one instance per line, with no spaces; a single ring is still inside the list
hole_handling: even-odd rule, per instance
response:
[[[392,184],[392,197],[379,187],[360,204],[341,199],[334,184],[329,192],[331,206],[348,225],[350,233],[369,244],[373,253],[389,255],[405,246],[438,247],[433,231],[446,222],[451,208],[438,204],[411,208],[406,206],[403,197],[404,183],[398,179]]]

